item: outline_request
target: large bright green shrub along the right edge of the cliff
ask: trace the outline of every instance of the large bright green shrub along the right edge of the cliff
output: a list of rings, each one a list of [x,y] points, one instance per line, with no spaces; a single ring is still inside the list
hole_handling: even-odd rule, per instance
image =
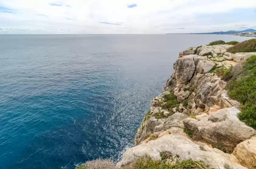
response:
[[[256,56],[246,60],[239,78],[229,81],[228,95],[241,103],[238,118],[256,129]]]

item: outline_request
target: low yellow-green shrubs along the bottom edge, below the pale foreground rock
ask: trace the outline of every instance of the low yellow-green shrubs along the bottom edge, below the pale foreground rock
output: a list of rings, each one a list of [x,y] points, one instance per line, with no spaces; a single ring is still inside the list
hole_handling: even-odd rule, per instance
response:
[[[210,166],[203,161],[192,159],[177,160],[175,164],[165,164],[165,160],[158,161],[144,156],[133,163],[133,169],[210,169]]]

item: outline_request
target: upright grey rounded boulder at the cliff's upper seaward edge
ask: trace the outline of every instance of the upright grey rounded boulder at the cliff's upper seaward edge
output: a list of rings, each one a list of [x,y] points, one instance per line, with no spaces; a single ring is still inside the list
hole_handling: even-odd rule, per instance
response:
[[[175,77],[178,81],[186,83],[189,81],[195,70],[193,57],[179,58],[174,64]]]

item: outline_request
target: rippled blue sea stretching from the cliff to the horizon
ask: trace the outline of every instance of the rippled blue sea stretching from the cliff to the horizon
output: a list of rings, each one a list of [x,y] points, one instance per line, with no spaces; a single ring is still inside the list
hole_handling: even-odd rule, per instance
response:
[[[0,168],[72,169],[134,146],[178,53],[233,35],[0,35]]]

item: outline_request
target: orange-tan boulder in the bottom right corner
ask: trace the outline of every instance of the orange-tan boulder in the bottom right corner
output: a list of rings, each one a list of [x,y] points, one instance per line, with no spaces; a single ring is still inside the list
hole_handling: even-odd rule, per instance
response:
[[[241,164],[249,169],[256,168],[256,137],[238,144],[233,154]]]

